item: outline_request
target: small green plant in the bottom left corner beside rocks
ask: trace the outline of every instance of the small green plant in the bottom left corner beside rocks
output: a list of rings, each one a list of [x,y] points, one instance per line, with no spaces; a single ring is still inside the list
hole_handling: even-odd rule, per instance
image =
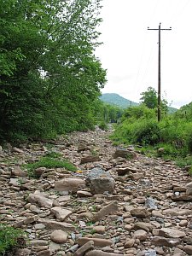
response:
[[[0,224],[0,256],[15,255],[15,248],[24,247],[25,234],[7,224]]]

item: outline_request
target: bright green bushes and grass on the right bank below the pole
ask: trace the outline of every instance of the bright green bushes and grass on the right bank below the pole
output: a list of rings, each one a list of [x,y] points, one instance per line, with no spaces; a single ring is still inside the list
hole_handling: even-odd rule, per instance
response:
[[[178,166],[192,165],[192,104],[172,114],[164,108],[158,122],[156,105],[148,108],[145,103],[125,110],[113,133],[113,143],[134,144],[142,147],[141,153],[171,158]],[[163,150],[158,153],[158,148]]]

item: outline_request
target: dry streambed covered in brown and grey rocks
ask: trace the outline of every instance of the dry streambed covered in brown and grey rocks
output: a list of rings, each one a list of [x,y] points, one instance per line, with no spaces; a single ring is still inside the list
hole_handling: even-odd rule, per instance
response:
[[[0,221],[26,231],[15,255],[192,255],[192,182],[172,161],[115,148],[108,132],[0,152]],[[49,151],[77,166],[21,166]]]

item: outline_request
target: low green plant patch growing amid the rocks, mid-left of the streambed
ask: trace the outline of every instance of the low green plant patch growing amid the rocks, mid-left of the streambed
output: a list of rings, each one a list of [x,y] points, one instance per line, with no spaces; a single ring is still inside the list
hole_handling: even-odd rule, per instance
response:
[[[46,168],[65,168],[67,171],[75,172],[77,168],[73,166],[68,160],[61,160],[58,159],[61,154],[57,153],[50,153],[46,154],[45,156],[41,157],[38,161],[30,164],[26,164],[24,168],[27,169],[29,177],[35,177],[34,170],[39,167],[46,167]]]

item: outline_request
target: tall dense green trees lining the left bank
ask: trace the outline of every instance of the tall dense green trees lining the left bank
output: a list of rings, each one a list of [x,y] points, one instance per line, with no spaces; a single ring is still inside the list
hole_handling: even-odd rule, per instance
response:
[[[1,2],[0,139],[93,128],[106,83],[94,55],[100,9],[100,0]]]

